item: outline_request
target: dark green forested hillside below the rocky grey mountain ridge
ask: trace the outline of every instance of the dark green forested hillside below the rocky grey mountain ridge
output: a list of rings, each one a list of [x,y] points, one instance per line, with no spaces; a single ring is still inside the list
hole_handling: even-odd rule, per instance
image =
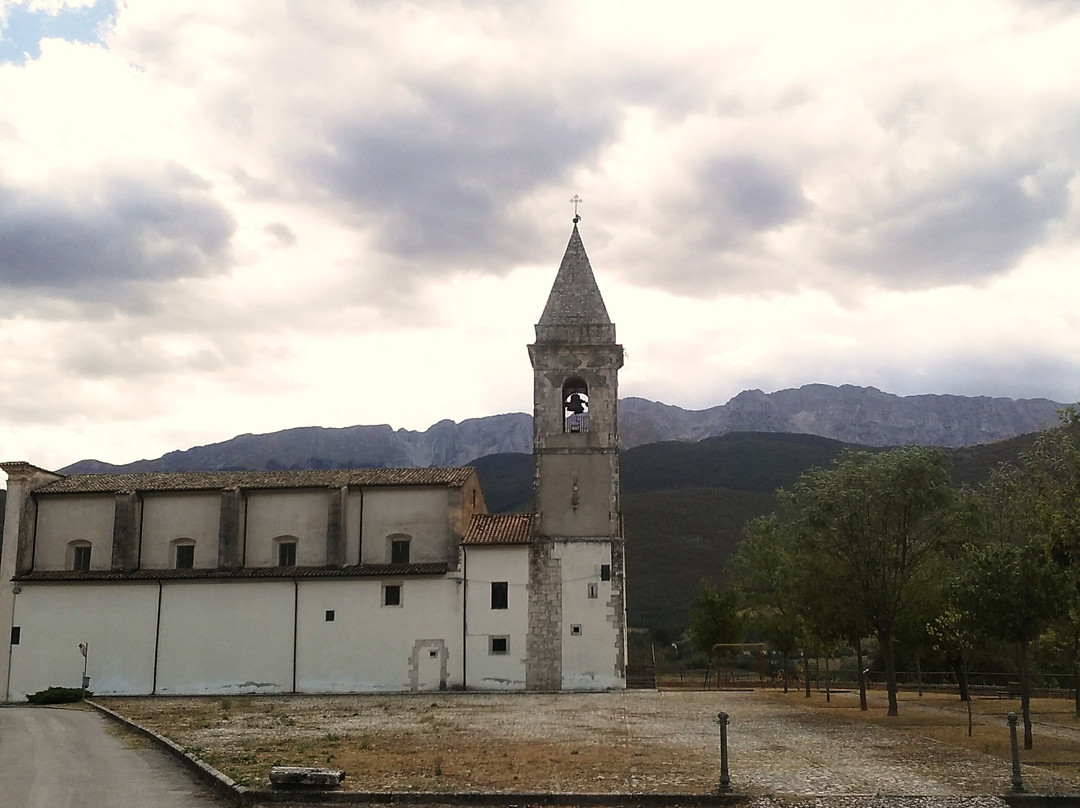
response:
[[[950,450],[954,482],[976,484],[1032,441],[1034,435],[1024,435]],[[723,581],[746,522],[773,510],[778,488],[804,471],[828,466],[846,446],[814,435],[744,432],[623,452],[630,624],[662,636],[680,634],[701,580]],[[489,455],[472,464],[490,510],[530,507],[530,455]]]

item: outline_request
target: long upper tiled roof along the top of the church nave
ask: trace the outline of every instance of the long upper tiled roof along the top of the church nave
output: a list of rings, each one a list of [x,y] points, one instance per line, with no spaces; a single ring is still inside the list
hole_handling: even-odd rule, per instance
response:
[[[71,474],[37,494],[224,490],[227,488],[342,488],[345,486],[445,485],[457,487],[475,473],[453,469],[336,469],[330,471],[187,471],[147,474]]]

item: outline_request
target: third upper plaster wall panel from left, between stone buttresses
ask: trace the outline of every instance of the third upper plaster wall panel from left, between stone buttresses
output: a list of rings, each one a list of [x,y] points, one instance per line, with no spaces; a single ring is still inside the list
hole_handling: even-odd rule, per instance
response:
[[[262,490],[247,494],[247,546],[244,566],[278,563],[273,540],[296,536],[298,566],[326,563],[326,523],[329,493],[325,489]]]

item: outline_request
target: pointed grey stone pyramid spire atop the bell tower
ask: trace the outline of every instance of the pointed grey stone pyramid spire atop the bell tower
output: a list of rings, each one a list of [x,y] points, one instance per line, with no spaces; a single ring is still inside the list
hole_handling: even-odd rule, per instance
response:
[[[615,325],[596,285],[577,223],[548,296],[548,305],[537,323],[537,341],[615,342]]]

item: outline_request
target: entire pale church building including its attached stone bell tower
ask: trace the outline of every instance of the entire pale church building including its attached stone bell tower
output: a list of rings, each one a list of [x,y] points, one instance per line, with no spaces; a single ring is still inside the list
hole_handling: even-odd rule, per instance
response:
[[[577,223],[528,347],[531,513],[471,468],[0,462],[2,699],[84,662],[99,695],[625,687],[623,353]]]

